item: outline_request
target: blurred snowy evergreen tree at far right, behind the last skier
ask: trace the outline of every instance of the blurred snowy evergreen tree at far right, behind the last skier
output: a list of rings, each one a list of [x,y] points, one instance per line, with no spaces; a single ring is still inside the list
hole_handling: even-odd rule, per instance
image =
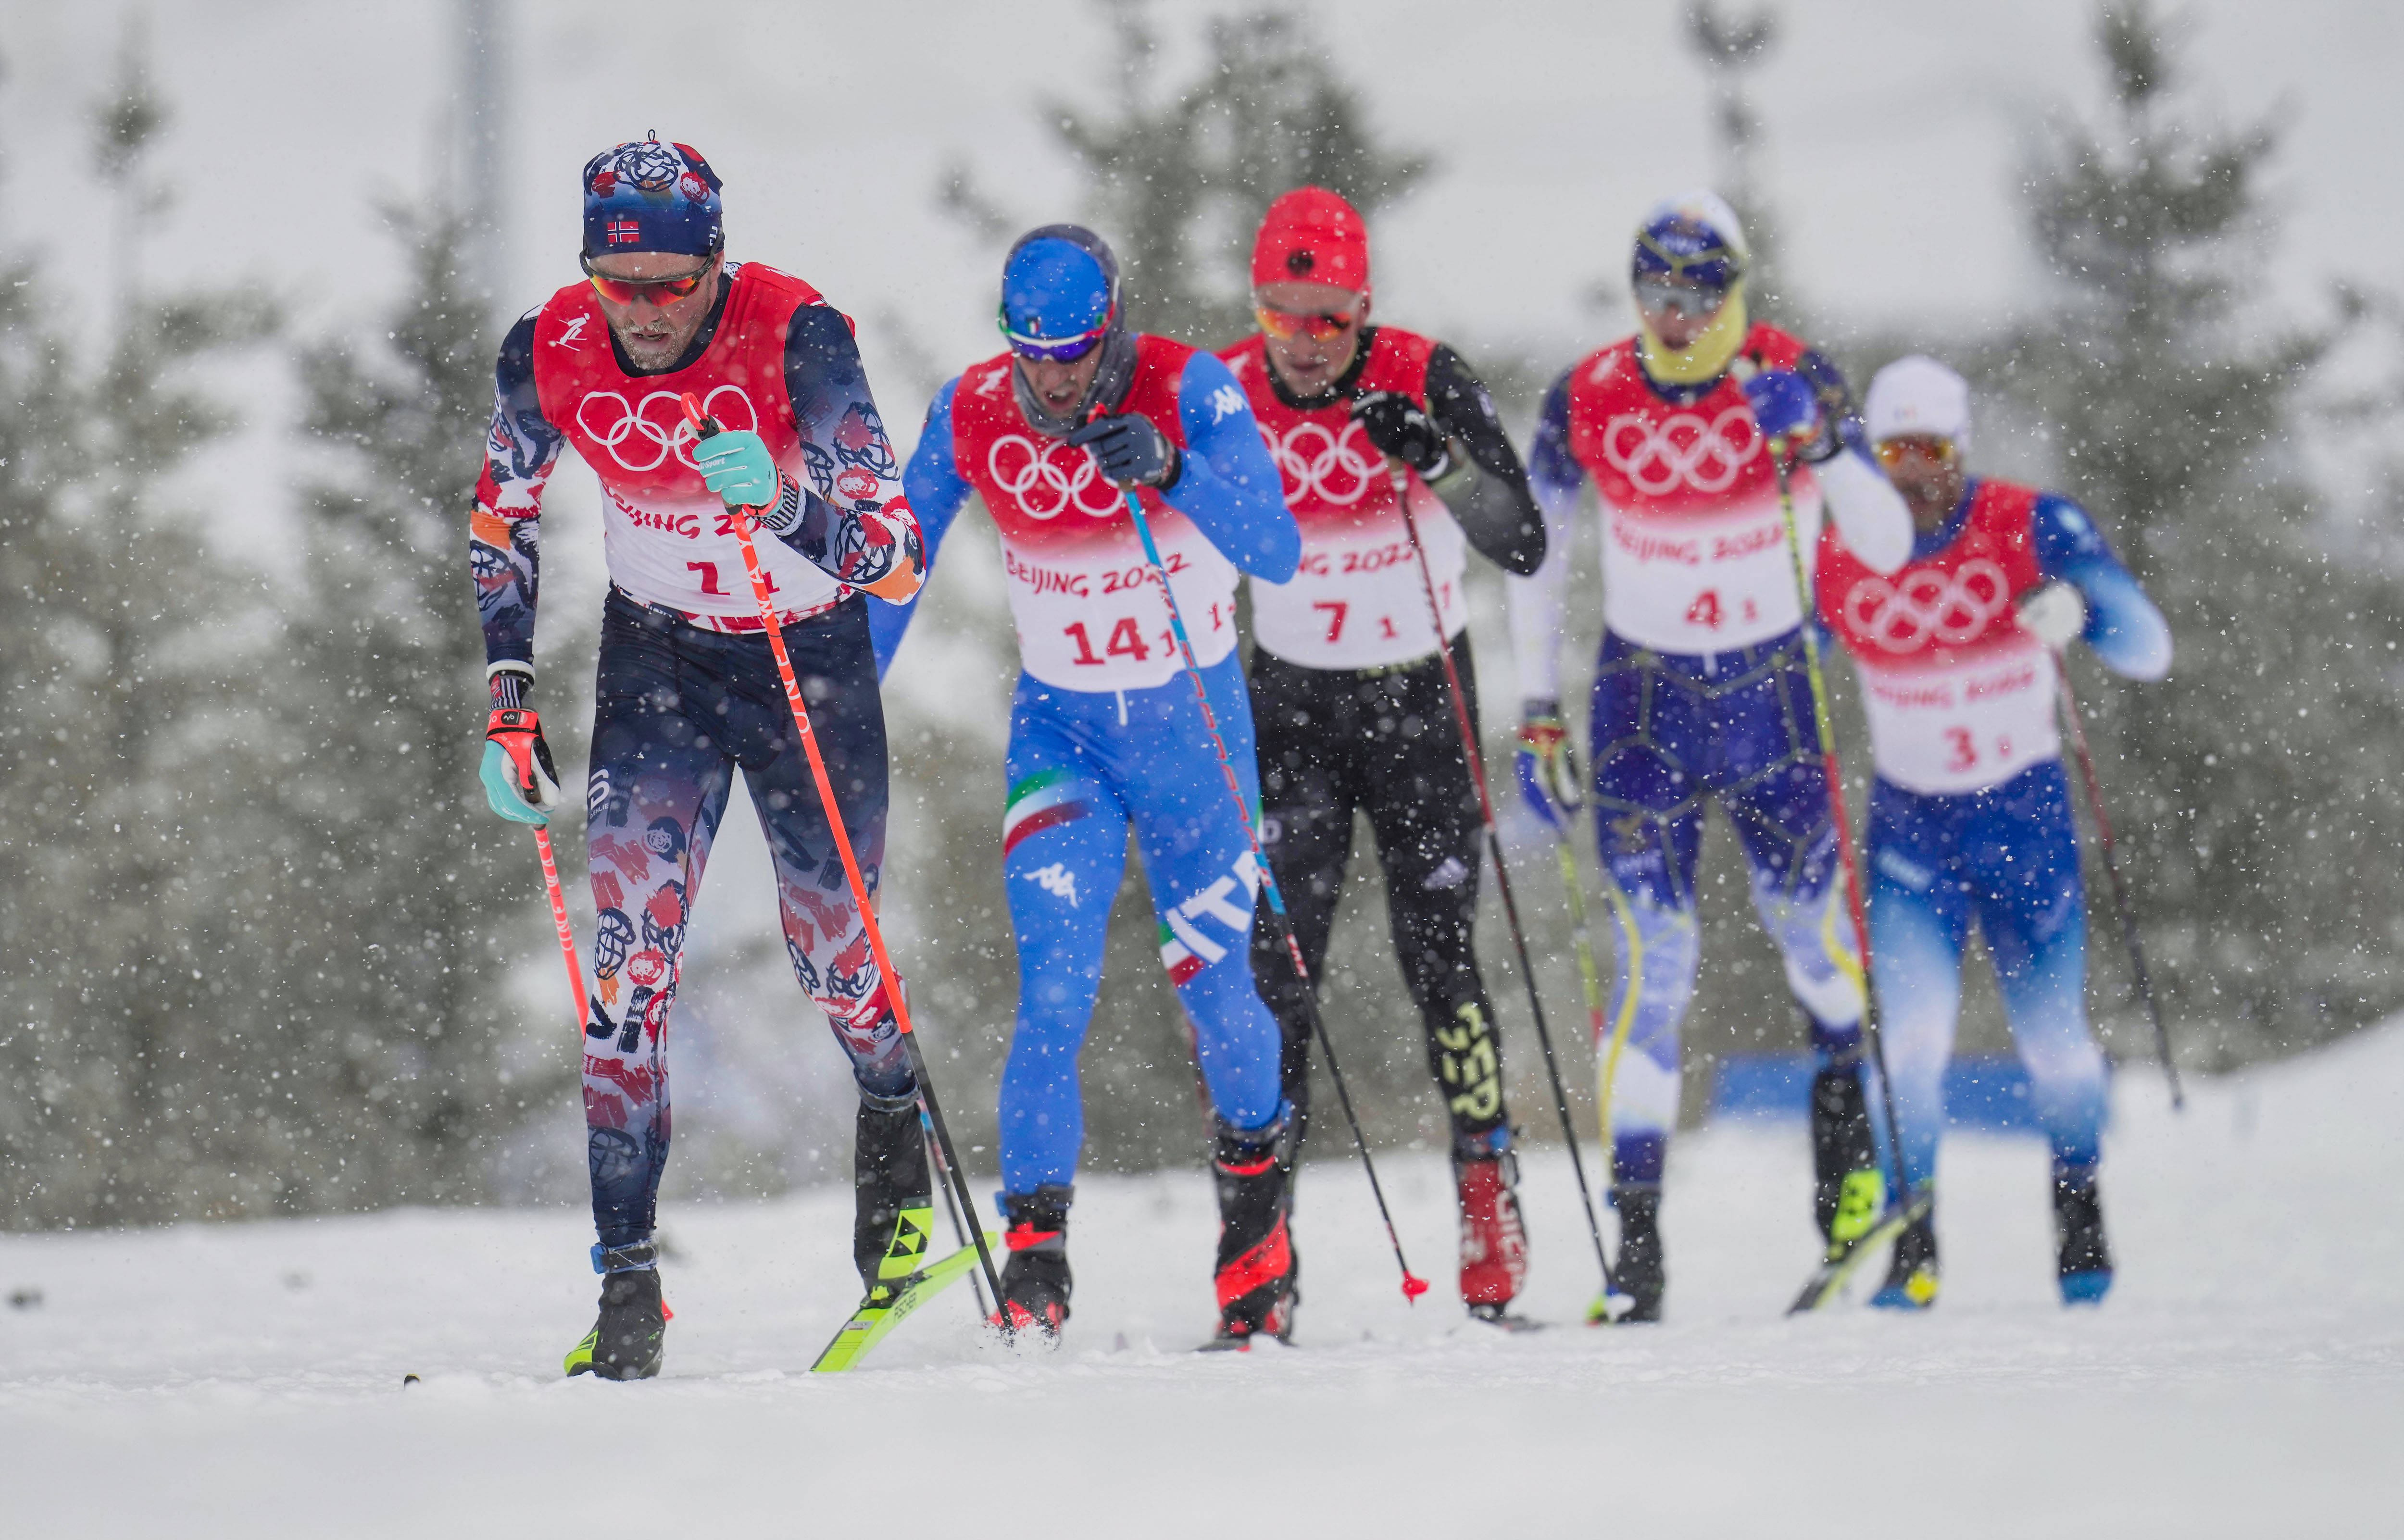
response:
[[[2171,620],[2168,680],[2087,668],[2082,699],[2176,1021],[2224,1064],[2404,1004],[2385,858],[2404,841],[2404,613],[2382,574],[2332,560],[2301,464],[2303,392],[2339,332],[2260,320],[2274,127],[2183,113],[2173,24],[2147,0],[2106,5],[2096,43],[2106,113],[2053,125],[2024,185],[2053,300],[1981,375],[2043,423],[2053,485]],[[2116,956],[2099,918],[2094,954]]]

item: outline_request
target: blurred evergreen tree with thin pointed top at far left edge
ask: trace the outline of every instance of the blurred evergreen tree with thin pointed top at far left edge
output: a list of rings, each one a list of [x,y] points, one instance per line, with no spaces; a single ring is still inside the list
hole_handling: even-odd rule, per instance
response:
[[[31,269],[0,300],[19,404],[0,517],[24,601],[0,627],[0,675],[7,735],[29,750],[0,781],[10,1225],[269,1204],[291,1141],[262,1115],[281,1096],[281,1021],[255,966],[279,906],[257,817],[276,625],[260,577],[219,560],[161,488],[236,425],[209,365],[276,317],[248,293],[142,283],[166,118],[130,31],[94,111],[118,204],[99,370],[77,370]]]

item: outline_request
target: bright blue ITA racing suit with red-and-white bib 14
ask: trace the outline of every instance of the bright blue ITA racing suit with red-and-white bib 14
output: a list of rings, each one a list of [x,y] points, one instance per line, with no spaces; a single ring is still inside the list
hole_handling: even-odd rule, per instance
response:
[[[1236,567],[1286,581],[1301,531],[1226,365],[1164,339],[1139,346],[1120,411],[1142,411],[1180,444],[1176,480],[1164,495],[1147,490],[1144,502],[1202,658],[1219,745],[1183,675],[1125,502],[1089,471],[1084,449],[1027,423],[1012,401],[1010,356],[935,394],[904,471],[928,562],[969,493],[983,497],[1002,531],[1019,629],[1024,673],[1010,709],[1002,817],[1019,956],[1000,1096],[1007,1194],[1075,1180],[1084,1144],[1077,1055],[1130,829],[1212,1105],[1233,1129],[1267,1127],[1284,1105],[1279,1031],[1250,966],[1260,872],[1226,766],[1243,807],[1257,807],[1252,716],[1233,656]],[[880,668],[914,608],[873,613]]]

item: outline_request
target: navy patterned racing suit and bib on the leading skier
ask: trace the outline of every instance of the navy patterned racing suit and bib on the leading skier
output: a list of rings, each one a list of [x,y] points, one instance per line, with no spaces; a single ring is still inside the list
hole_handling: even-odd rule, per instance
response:
[[[594,702],[587,848],[599,911],[584,1026],[584,1122],[603,1247],[651,1235],[668,1160],[668,1014],[685,925],[736,769],[776,865],[786,951],[851,1057],[865,1105],[916,1084],[868,954],[731,514],[692,466],[680,394],[762,435],[808,500],[760,541],[837,805],[870,887],[885,855],[885,714],[868,584],[921,562],[899,464],[851,322],[815,288],[728,262],[692,348],[637,372],[589,286],[560,288],[500,348],[471,562],[493,663],[531,668],[543,485],[572,447],[601,478],[611,593]],[[870,538],[875,521],[882,536]],[[495,685],[498,690],[500,685]]]

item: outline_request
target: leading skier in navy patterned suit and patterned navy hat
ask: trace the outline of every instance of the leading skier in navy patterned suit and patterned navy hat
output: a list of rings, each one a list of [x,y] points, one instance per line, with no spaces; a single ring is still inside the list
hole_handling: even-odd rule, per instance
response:
[[[543,483],[572,447],[601,478],[591,776],[594,983],[584,1122],[601,1317],[567,1372],[659,1372],[666,1307],[651,1220],[668,1160],[666,1028],[690,899],[740,769],[776,865],[786,951],[861,1088],[853,1257],[861,1283],[916,1271],[933,1204],[918,1086],[844,884],[762,634],[726,505],[767,505],[760,541],[784,634],[875,884],[885,853],[885,709],[861,593],[904,601],[918,521],[861,372],[851,322],[815,288],[728,262],[719,178],[685,144],[637,139],[584,166],[584,283],[510,329],[469,555],[483,615],[493,812],[543,824],[558,776],[534,690]],[[685,425],[697,394],[724,432]]]

